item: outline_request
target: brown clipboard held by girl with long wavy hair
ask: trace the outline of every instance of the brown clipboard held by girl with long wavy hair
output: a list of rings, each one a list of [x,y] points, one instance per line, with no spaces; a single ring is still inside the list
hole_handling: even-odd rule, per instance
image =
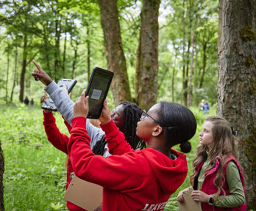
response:
[[[180,203],[177,201],[179,211],[202,211],[201,205],[198,201],[191,198],[193,188],[183,193],[184,201]]]

